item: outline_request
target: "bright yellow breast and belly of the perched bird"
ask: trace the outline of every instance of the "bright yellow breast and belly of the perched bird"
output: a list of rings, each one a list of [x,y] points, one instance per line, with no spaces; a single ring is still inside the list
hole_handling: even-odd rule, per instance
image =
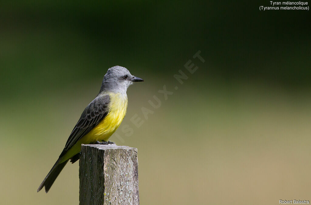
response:
[[[81,151],[81,144],[94,144],[96,141],[108,141],[109,137],[118,129],[126,114],[128,98],[126,95],[122,96],[120,93],[109,93],[109,97],[109,112],[106,117],[73,145],[63,156],[61,162],[79,153]]]

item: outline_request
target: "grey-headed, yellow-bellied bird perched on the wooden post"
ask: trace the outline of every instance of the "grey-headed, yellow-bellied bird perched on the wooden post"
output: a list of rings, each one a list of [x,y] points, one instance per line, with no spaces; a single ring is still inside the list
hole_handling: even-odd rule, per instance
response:
[[[108,139],[118,129],[125,117],[128,107],[126,91],[134,82],[143,81],[143,79],[132,75],[128,69],[118,65],[107,70],[99,93],[82,112],[62,153],[40,184],[37,192],[45,187],[45,192],[48,193],[68,160],[71,163],[79,160],[81,144],[114,144]]]

